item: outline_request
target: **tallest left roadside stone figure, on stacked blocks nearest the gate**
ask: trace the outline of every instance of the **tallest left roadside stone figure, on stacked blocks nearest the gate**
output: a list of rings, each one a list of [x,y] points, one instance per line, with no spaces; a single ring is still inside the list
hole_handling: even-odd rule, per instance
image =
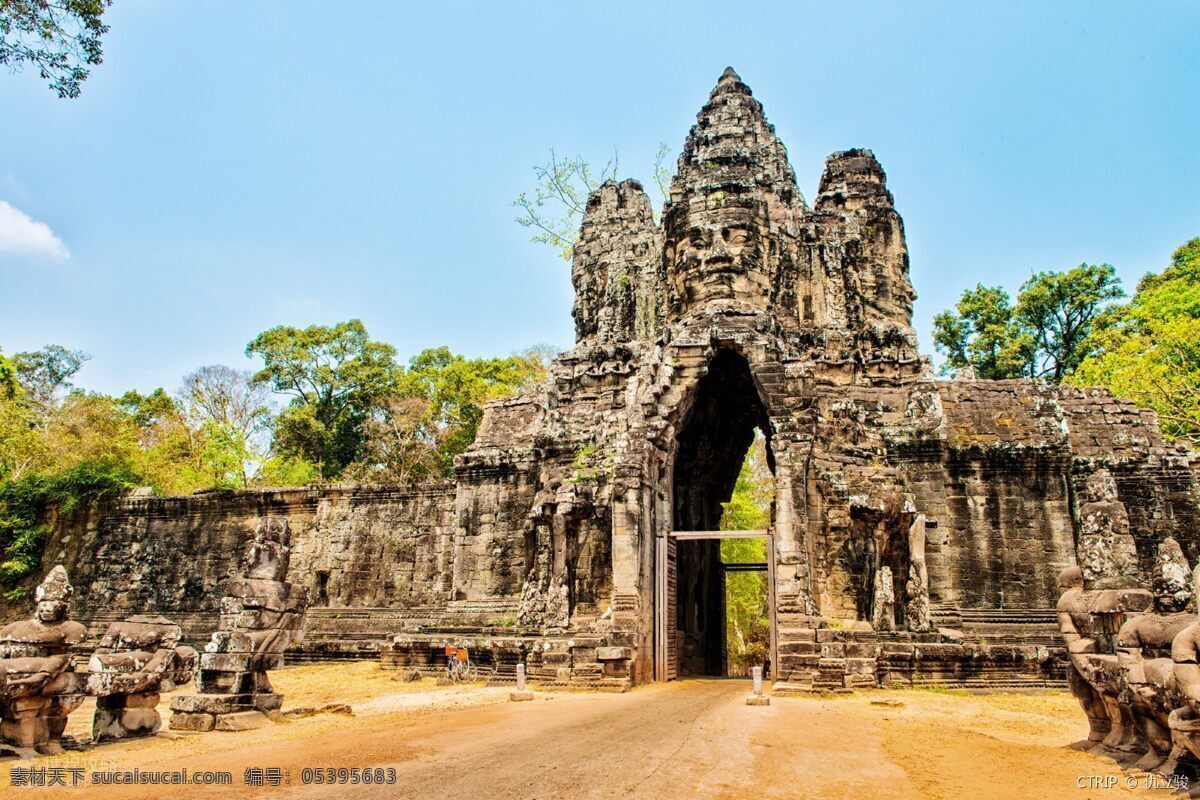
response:
[[[199,693],[176,697],[170,727],[238,730],[262,724],[283,697],[268,670],[283,666],[283,651],[304,636],[308,590],[286,581],[288,522],[266,517],[242,563],[244,576],[221,601],[220,630],[200,654]]]

